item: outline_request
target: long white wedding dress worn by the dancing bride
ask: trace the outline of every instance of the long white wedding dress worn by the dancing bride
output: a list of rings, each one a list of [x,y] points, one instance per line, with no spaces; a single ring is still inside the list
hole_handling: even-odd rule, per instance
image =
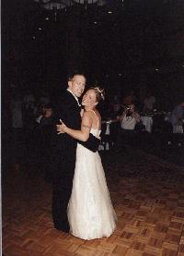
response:
[[[96,137],[100,134],[95,128],[90,132]],[[70,233],[86,240],[109,237],[116,228],[117,216],[110,201],[100,156],[79,143],[68,220]]]

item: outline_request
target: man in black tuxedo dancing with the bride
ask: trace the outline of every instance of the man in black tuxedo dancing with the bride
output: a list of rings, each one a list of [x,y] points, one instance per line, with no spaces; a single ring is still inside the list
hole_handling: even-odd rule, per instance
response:
[[[55,105],[54,123],[63,123],[74,129],[81,127],[81,107],[78,98],[81,97],[86,86],[83,74],[74,74],[68,80],[68,89],[61,95],[59,103]],[[79,141],[78,141],[79,142]],[[81,142],[87,149],[95,152],[99,140],[90,134],[89,140]],[[69,232],[67,205],[70,200],[75,173],[75,154],[77,140],[66,133],[52,134],[52,218],[54,227],[63,232]]]

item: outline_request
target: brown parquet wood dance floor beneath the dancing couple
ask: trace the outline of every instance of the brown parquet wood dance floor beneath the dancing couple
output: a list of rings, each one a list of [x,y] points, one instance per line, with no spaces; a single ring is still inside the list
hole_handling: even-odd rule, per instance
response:
[[[110,238],[91,241],[52,226],[52,188],[15,165],[3,176],[4,256],[184,256],[184,167],[126,148],[102,152],[118,215]]]

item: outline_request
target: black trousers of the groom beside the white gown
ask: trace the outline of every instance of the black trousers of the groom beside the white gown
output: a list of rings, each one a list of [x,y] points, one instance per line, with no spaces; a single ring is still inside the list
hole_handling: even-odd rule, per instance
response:
[[[67,206],[75,172],[75,155],[54,156],[52,162],[52,218],[56,228],[69,231]]]

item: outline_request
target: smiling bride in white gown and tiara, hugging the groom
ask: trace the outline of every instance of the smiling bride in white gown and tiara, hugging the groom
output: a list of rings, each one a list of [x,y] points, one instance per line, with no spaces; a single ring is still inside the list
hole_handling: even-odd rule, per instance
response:
[[[86,91],[82,101],[85,112],[81,130],[67,128],[63,124],[60,131],[83,141],[88,139],[89,133],[99,137],[101,117],[96,105],[103,98],[103,91],[98,87]],[[116,228],[117,216],[110,201],[100,156],[98,152],[91,152],[79,143],[68,220],[70,233],[87,240],[109,237]]]

